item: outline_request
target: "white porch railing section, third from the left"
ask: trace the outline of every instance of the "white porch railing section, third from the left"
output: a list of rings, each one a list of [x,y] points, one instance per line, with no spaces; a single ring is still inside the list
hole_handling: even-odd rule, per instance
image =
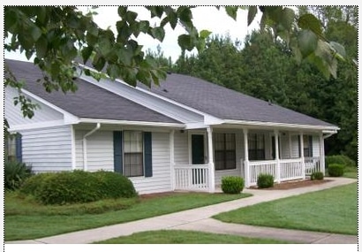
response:
[[[302,158],[280,160],[280,180],[303,179]]]

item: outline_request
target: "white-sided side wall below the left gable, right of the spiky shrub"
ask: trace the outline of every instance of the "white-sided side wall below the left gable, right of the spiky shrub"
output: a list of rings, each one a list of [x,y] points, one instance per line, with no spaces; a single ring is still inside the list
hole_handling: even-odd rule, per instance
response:
[[[72,171],[71,126],[26,130],[22,135],[22,159],[34,172]]]

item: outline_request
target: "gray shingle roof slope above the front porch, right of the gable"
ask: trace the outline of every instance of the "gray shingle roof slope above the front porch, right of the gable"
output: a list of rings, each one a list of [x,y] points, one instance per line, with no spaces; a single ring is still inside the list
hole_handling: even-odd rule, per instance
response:
[[[141,84],[139,87],[149,90]],[[153,85],[150,91],[222,119],[334,126],[206,80],[177,73],[169,74],[160,87]]]

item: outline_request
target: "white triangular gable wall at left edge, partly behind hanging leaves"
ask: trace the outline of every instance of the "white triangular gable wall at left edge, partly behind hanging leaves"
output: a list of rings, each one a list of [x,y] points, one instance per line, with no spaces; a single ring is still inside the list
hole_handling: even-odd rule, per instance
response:
[[[29,124],[36,124],[42,122],[49,122],[49,121],[58,121],[63,120],[63,114],[55,111],[49,106],[38,103],[41,108],[37,109],[34,113],[33,118],[24,118],[22,116],[22,112],[20,111],[20,106],[14,105],[13,98],[18,96],[18,91],[14,88],[5,88],[5,95],[4,95],[4,113],[5,118],[8,120],[10,126],[19,126],[19,125],[29,125]],[[33,100],[35,103],[35,101]]]

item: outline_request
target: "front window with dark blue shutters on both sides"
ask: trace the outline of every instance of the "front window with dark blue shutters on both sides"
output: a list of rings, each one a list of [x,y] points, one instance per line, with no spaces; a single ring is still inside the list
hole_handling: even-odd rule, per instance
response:
[[[143,171],[143,134],[124,131],[124,176],[143,176]]]

